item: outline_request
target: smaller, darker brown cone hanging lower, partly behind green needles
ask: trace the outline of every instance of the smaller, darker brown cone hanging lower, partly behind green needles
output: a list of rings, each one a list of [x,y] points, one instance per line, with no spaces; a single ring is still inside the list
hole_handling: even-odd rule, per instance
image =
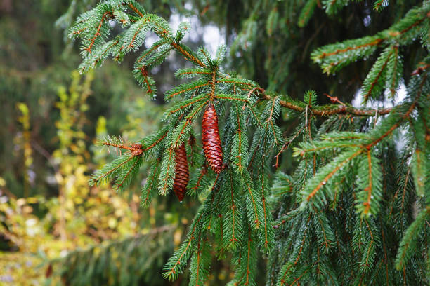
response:
[[[174,179],[174,192],[179,201],[183,200],[188,184],[188,161],[185,143],[176,150],[175,154],[176,174]]]

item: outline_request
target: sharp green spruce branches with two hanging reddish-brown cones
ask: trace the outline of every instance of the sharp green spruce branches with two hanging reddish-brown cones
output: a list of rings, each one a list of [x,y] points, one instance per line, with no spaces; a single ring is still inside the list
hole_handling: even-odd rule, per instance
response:
[[[303,27],[317,6],[334,15],[350,1],[292,2],[302,9]],[[391,5],[373,2],[379,13]],[[116,36],[113,23],[122,27]],[[133,144],[101,142],[124,152],[90,184],[109,181],[121,191],[146,163],[152,167],[143,206],[157,194],[181,199],[184,186],[186,196],[205,198],[164,267],[168,280],[189,266],[190,285],[203,285],[216,253],[235,266],[231,285],[256,285],[261,257],[267,285],[428,285],[429,27],[430,1],[423,1],[387,29],[313,50],[311,60],[326,74],[377,57],[360,87],[363,107],[353,107],[338,95],[317,95],[313,86],[301,100],[265,88],[224,68],[225,47],[212,57],[204,47],[186,46],[186,23],[174,31],[135,0],[101,1],[70,29],[82,39],[80,71],[140,52],[133,75],[155,96],[150,72],[170,53],[193,67],[178,69],[175,75],[189,80],[164,93],[163,128]],[[148,32],[159,40],[145,49]],[[416,67],[403,62],[410,46],[423,55]],[[402,102],[367,107],[398,97],[405,79]],[[320,97],[332,103],[319,104]],[[294,130],[282,125],[286,117],[298,122]],[[278,167],[289,157],[282,155],[291,150],[294,170],[283,172]]]

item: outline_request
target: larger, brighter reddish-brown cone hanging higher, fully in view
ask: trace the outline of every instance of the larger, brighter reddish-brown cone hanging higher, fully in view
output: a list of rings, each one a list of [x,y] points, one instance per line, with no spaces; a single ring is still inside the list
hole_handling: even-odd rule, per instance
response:
[[[212,170],[219,174],[223,168],[223,150],[219,137],[218,117],[212,103],[209,103],[204,111],[202,133],[204,156]]]

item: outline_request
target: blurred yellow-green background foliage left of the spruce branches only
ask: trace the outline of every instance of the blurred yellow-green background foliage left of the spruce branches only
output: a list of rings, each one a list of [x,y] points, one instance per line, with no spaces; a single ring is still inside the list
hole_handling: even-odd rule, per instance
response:
[[[130,65],[76,71],[79,52],[65,29],[94,2],[0,3],[0,285],[164,285],[162,266],[194,211],[196,203],[183,207],[175,198],[142,210],[140,186],[117,194],[88,185],[116,152],[96,138],[133,142],[157,130],[162,116]],[[159,71],[165,89],[179,63]],[[74,265],[76,256],[103,268]]]

